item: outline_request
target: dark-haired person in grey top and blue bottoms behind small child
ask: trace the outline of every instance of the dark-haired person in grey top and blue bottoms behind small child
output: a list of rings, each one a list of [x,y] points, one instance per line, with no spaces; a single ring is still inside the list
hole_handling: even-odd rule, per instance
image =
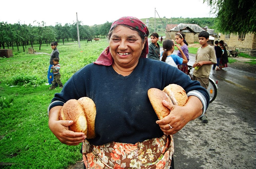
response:
[[[58,42],[55,41],[55,42],[51,43],[52,52],[51,52],[51,55],[50,55],[50,65],[49,65],[48,73],[47,73],[47,79],[48,79],[49,85],[51,85],[52,81],[53,81],[53,72],[52,72],[51,67],[54,66],[54,64],[53,64],[52,59],[54,59],[54,58],[60,59],[59,58],[60,53],[59,53],[59,50],[57,49],[57,46],[58,46]]]

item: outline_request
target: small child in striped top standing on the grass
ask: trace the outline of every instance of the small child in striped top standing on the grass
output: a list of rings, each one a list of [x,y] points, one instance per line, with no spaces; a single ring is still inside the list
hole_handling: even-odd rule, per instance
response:
[[[60,88],[63,87],[63,84],[60,81],[60,64],[59,64],[59,59],[54,58],[52,59],[54,66],[51,67],[52,72],[53,72],[53,81],[51,87],[49,89],[55,89],[56,88],[56,83],[60,86]]]

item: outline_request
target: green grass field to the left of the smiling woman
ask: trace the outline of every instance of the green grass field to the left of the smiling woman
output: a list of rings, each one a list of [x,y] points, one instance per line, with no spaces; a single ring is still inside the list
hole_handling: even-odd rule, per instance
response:
[[[57,46],[62,83],[95,61],[108,46],[105,39],[81,41],[81,48],[75,42],[65,43]],[[41,51],[39,45],[34,48],[48,54],[52,51],[45,44]],[[47,107],[54,94],[60,92],[59,88],[49,90],[45,85],[50,55],[18,52],[17,47],[13,53],[12,58],[0,59],[0,162],[14,163],[6,168],[67,168],[81,160],[81,145],[61,144],[48,127]],[[20,85],[14,85],[16,79]]]

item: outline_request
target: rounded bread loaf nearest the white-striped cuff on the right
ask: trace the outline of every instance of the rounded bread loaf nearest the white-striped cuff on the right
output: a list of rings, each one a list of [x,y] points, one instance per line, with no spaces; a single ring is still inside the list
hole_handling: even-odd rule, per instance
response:
[[[188,101],[185,90],[176,84],[169,84],[163,91],[172,99],[174,105],[184,106]]]

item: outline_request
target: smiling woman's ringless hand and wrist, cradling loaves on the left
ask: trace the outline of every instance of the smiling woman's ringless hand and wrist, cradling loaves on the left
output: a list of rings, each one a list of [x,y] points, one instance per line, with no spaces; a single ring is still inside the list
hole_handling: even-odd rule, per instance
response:
[[[75,146],[84,142],[86,135],[82,132],[73,132],[68,126],[73,124],[72,120],[59,120],[59,112],[62,106],[51,108],[49,112],[49,128],[51,132],[60,140],[61,143]]]

